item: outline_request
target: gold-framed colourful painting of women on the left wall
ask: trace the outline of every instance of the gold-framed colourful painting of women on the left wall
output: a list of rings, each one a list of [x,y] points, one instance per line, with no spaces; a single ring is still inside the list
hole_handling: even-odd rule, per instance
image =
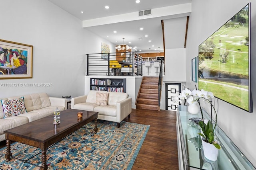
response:
[[[32,78],[33,46],[0,39],[0,79]]]

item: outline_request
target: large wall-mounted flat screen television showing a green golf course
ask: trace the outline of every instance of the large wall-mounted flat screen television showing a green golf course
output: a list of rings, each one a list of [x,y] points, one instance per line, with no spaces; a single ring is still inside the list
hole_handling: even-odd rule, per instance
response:
[[[252,112],[250,3],[199,45],[198,89]]]

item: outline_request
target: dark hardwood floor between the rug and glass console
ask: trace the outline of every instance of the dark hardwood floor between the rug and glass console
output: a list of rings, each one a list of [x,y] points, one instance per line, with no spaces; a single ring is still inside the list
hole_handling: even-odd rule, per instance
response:
[[[132,109],[124,121],[150,125],[132,170],[178,170],[176,112]],[[0,148],[5,147],[0,142]]]

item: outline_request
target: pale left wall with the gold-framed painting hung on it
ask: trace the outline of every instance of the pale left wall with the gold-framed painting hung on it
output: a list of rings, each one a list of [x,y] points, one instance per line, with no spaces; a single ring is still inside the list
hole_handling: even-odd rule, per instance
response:
[[[0,39],[33,45],[33,78],[1,83],[52,83],[52,87],[0,86],[0,98],[36,92],[72,97],[84,94],[86,53],[114,44],[82,28],[82,21],[47,0],[0,0]]]

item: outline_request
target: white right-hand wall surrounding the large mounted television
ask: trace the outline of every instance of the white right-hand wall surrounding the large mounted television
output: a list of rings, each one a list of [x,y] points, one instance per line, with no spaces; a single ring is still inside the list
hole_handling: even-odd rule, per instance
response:
[[[221,27],[234,14],[240,11],[249,0],[193,0],[192,13],[188,24],[186,43],[186,87],[195,88],[191,82],[191,59],[198,56],[198,45]],[[251,65],[252,73],[256,72],[256,2],[251,3]],[[226,102],[218,100],[218,125],[230,137],[235,145],[256,166],[256,74],[252,75],[252,98],[254,113],[248,113]],[[214,92],[213,92],[214,93]]]

